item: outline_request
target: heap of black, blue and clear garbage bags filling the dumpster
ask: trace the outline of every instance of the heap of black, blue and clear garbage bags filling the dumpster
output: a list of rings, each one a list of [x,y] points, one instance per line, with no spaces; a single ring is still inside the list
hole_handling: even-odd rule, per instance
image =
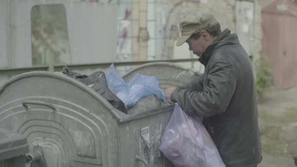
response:
[[[127,109],[132,114],[146,110],[149,107],[160,107],[166,102],[164,93],[159,88],[156,77],[136,74],[126,84],[123,78],[115,73],[113,64],[107,71],[107,80],[106,74],[103,71],[97,71],[88,76],[71,71],[65,66],[63,68],[63,74],[94,89],[115,108],[126,114]],[[148,96],[151,97],[148,98]]]

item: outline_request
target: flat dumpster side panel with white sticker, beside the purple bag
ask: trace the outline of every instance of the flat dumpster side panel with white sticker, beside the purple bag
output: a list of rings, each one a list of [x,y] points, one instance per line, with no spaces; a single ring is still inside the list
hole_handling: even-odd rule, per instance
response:
[[[134,119],[119,125],[119,167],[146,167],[136,156],[148,162],[148,167],[173,167],[159,151],[162,133],[170,119],[172,107],[154,115]],[[144,132],[142,129],[148,129]],[[144,138],[141,133],[146,133]],[[149,139],[148,139],[149,138]]]

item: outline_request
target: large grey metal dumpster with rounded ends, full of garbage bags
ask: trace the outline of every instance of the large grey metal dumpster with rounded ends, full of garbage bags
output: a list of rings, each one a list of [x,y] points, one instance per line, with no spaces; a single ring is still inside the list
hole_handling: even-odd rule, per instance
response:
[[[191,79],[189,70],[151,63],[124,80],[136,73],[156,76],[163,89]],[[0,87],[0,127],[24,135],[31,155],[42,152],[38,167],[172,167],[159,146],[173,107],[125,114],[60,73],[24,73]]]

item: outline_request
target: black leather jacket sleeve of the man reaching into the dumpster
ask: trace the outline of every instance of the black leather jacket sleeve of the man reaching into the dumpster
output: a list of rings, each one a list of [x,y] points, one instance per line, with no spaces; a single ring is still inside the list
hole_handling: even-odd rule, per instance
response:
[[[213,63],[202,91],[177,87],[171,100],[188,112],[195,112],[201,118],[222,113],[229,105],[235,91],[234,67],[225,60]]]

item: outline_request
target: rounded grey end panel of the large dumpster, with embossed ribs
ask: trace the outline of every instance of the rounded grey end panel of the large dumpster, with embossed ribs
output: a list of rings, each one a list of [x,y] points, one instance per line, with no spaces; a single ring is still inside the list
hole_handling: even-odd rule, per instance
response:
[[[117,167],[112,106],[74,83],[44,75],[6,85],[0,127],[24,134],[31,152],[42,146],[49,167]]]

